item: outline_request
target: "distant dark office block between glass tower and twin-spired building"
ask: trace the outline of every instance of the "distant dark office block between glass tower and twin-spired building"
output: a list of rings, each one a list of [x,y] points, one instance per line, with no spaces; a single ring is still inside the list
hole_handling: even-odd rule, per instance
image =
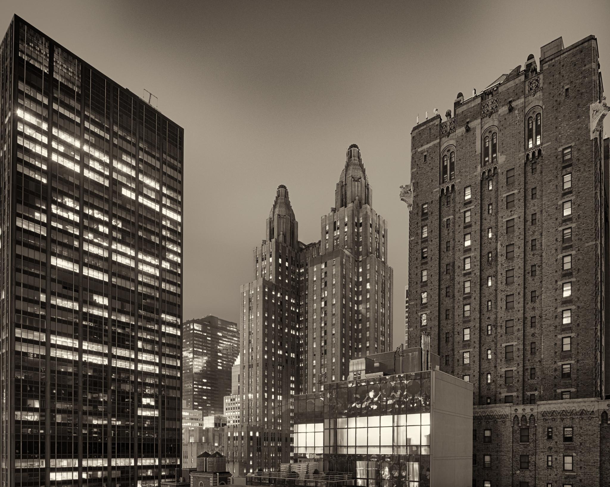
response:
[[[223,413],[231,393],[232,366],[239,354],[237,323],[207,316],[182,325],[182,391],[187,409],[204,416]]]

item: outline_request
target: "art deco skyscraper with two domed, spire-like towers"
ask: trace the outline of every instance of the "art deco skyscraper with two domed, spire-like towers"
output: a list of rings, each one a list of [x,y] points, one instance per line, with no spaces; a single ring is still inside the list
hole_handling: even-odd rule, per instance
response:
[[[279,186],[254,249],[254,280],[241,288],[242,425],[229,428],[227,449],[234,474],[290,461],[294,394],[346,380],[350,359],[392,349],[387,224],[372,208],[355,144],[320,228],[318,242],[298,240]]]

